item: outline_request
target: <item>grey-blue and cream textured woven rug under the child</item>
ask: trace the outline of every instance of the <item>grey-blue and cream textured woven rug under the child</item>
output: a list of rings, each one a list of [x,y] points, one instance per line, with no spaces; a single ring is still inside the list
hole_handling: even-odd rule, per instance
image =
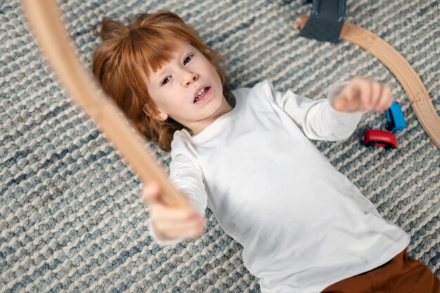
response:
[[[125,2],[125,3],[124,3]],[[392,86],[408,127],[399,147],[363,148],[365,115],[346,141],[315,142],[332,164],[411,235],[410,256],[440,275],[440,151],[396,78],[345,41],[298,37],[292,22],[311,6],[287,0],[59,1],[79,58],[90,70],[104,15],[167,9],[226,57],[233,89],[270,79],[313,99],[355,75]],[[413,65],[440,112],[439,1],[348,1],[347,15]],[[148,232],[141,182],[91,120],[73,105],[34,43],[17,1],[0,1],[0,292],[260,292],[242,247],[207,211],[202,237],[160,247]],[[164,170],[169,154],[145,142]]]

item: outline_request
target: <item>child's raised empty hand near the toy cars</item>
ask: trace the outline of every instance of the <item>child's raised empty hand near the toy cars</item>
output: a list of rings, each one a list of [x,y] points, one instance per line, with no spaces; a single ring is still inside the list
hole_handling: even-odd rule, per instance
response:
[[[393,103],[389,86],[372,79],[355,77],[342,89],[332,106],[341,112],[383,112]]]

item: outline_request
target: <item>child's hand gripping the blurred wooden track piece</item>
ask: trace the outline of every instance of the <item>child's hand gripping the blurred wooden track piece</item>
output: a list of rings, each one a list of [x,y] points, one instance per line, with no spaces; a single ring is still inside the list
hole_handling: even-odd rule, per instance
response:
[[[143,198],[150,206],[151,224],[159,240],[195,237],[205,230],[207,220],[193,206],[169,207],[160,200],[160,187],[150,183],[143,188]]]

